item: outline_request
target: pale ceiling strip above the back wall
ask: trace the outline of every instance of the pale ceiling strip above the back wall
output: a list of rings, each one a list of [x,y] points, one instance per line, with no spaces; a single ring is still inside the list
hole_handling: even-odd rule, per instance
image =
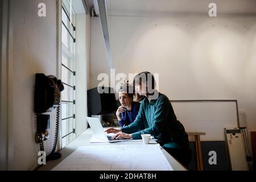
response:
[[[90,0],[93,2],[93,0]],[[207,14],[216,3],[217,15],[256,15],[256,0],[106,0],[109,15]]]

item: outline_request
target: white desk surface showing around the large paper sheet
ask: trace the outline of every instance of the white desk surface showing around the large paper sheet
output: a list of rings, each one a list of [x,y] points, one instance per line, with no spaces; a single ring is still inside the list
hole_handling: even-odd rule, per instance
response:
[[[92,146],[92,145],[106,145],[106,144],[142,144],[142,141],[139,142],[117,142],[117,143],[89,143],[90,138],[92,138],[92,131],[90,129],[87,129],[79,135],[76,139],[74,139],[71,143],[69,143],[65,148],[63,148],[61,151],[61,158],[57,160],[51,160],[46,163],[46,165],[43,165],[38,170],[39,171],[46,171],[51,170],[53,167],[55,167],[57,164],[59,164],[62,160],[67,158],[68,155],[72,154],[78,147],[80,146]],[[184,168],[179,162],[177,162],[168,152],[166,152],[164,149],[162,149],[163,154],[166,156],[168,162],[170,163],[171,167],[174,169],[174,171],[185,171],[187,170]]]

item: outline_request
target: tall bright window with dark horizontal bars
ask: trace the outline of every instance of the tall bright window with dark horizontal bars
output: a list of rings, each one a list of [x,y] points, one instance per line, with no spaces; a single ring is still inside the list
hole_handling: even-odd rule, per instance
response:
[[[61,9],[61,146],[67,146],[76,137],[76,64],[79,61],[76,29],[84,27],[79,15],[85,9],[83,0],[63,0]],[[77,23],[79,22],[79,23]],[[85,34],[85,31],[84,31]]]

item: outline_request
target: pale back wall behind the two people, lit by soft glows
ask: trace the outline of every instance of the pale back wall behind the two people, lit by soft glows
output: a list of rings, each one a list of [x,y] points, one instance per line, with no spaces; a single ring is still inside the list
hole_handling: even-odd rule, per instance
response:
[[[109,74],[98,18],[92,18],[90,87]],[[256,16],[109,16],[117,73],[159,73],[170,100],[234,99],[256,130]]]

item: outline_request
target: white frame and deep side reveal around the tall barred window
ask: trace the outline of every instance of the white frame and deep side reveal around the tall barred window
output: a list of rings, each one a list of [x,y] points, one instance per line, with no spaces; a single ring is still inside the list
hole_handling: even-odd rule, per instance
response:
[[[61,33],[62,33],[62,6],[63,2],[65,0],[57,0],[58,2],[58,29],[57,31],[59,32],[57,36],[57,42],[58,42],[58,55],[57,55],[57,60],[59,61],[57,64],[57,76],[61,78],[61,69],[63,66],[61,65],[61,59],[63,53],[65,54],[66,57],[72,57],[72,53],[68,50],[67,47],[63,46],[62,40],[61,40]],[[85,131],[88,127],[88,123],[86,121],[86,116],[87,116],[87,94],[86,90],[88,87],[88,64],[89,64],[89,45],[90,45],[90,36],[88,34],[89,30],[89,19],[90,15],[88,12],[88,6],[86,5],[85,0],[77,1],[77,4],[74,2],[77,0],[72,0],[72,3],[75,7],[75,10],[77,10],[77,27],[76,27],[76,35],[73,37],[76,38],[76,36],[79,36],[79,39],[76,39],[76,44],[79,46],[79,48],[73,52],[73,59],[75,60],[75,64],[77,65],[77,70],[76,70],[76,82],[74,82],[74,85],[76,85],[76,93],[74,94],[74,99],[76,101],[76,110],[74,111],[76,121],[73,119],[73,126],[76,127],[75,129],[75,134],[73,139],[75,139],[78,135],[80,135],[83,131]],[[84,7],[85,11],[84,11]],[[81,9],[82,8],[82,9]],[[81,14],[84,14],[81,16]],[[74,17],[73,17],[74,18]],[[84,24],[82,24],[84,22]],[[81,23],[81,24],[80,24]],[[77,57],[76,57],[77,56]],[[75,71],[75,69],[73,70]],[[67,88],[67,85],[64,85],[65,88]],[[63,92],[62,92],[63,93]],[[77,99],[78,98],[78,99]],[[63,102],[61,102],[63,103]],[[62,104],[61,104],[62,105]],[[63,108],[64,109],[64,108]],[[62,108],[61,108],[62,110]],[[61,113],[61,116],[64,115]],[[63,133],[61,131],[62,129],[62,119],[60,119],[60,130],[59,130],[59,142],[58,142],[58,149],[61,150],[62,148],[65,147],[65,143],[62,141],[62,136]],[[72,140],[71,140],[72,141]],[[71,142],[69,141],[69,142]]]

